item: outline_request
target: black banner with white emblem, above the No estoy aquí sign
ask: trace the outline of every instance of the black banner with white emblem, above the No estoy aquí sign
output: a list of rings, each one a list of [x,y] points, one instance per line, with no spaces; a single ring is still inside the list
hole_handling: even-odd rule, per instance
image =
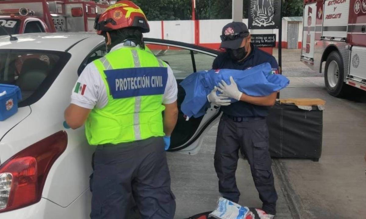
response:
[[[250,0],[249,29],[278,29],[281,22],[279,0]]]

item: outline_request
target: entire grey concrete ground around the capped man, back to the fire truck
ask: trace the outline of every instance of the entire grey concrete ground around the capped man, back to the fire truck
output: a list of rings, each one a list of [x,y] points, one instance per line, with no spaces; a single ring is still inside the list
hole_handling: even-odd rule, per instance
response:
[[[273,171],[279,193],[277,219],[365,219],[366,218],[366,98],[354,101],[330,96],[324,79],[305,69],[298,51],[283,58],[283,74],[290,78],[281,98],[321,98],[324,110],[323,146],[319,162],[275,159]],[[288,54],[288,53],[287,53]],[[293,58],[295,59],[295,58]],[[287,60],[287,61],[286,61]],[[310,76],[303,74],[309,72]],[[291,77],[296,76],[296,77]],[[309,75],[306,75],[309,76]],[[206,135],[197,155],[168,153],[177,219],[212,211],[219,197],[213,166],[217,126]],[[236,172],[242,193],[239,204],[261,207],[249,165],[239,160]]]

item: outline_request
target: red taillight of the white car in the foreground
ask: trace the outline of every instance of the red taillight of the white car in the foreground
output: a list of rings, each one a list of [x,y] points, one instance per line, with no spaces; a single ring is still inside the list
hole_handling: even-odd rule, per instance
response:
[[[59,131],[15,154],[0,166],[0,212],[41,199],[47,174],[65,151],[67,134]]]

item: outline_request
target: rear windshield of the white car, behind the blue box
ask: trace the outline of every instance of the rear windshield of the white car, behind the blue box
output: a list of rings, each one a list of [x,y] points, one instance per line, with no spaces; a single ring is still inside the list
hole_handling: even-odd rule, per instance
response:
[[[0,50],[0,84],[17,85],[19,107],[38,101],[51,86],[70,54],[42,50]]]

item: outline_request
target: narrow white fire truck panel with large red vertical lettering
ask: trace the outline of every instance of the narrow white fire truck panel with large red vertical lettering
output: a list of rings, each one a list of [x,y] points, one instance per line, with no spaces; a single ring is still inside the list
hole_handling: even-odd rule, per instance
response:
[[[301,56],[311,61],[313,61],[314,58],[316,14],[316,2],[305,5]]]

